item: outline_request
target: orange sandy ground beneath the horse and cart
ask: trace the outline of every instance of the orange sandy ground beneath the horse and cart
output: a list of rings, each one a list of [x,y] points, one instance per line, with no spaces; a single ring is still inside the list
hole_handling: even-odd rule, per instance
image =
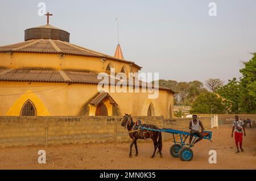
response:
[[[133,158],[128,157],[128,143],[0,148],[0,169],[256,169],[256,128],[246,129],[245,152],[238,154],[231,129],[232,125],[212,129],[213,142],[200,141],[190,162],[171,157],[171,140],[163,142],[163,158],[156,155],[151,159],[152,142],[142,141],[138,143],[139,156]],[[38,163],[41,149],[46,150],[46,164]],[[216,164],[208,162],[212,149],[217,151]]]

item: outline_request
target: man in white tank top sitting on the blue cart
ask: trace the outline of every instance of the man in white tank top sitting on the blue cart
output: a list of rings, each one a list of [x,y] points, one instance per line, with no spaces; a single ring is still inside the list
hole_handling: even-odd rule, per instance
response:
[[[191,129],[190,137],[189,137],[189,145],[191,145],[193,135],[198,136],[197,140],[193,143],[193,145],[199,142],[200,140],[202,140],[204,137],[203,124],[201,123],[200,120],[197,119],[197,115],[193,115],[192,118],[193,119],[189,123],[189,129]],[[200,132],[200,127],[201,127],[201,132]]]

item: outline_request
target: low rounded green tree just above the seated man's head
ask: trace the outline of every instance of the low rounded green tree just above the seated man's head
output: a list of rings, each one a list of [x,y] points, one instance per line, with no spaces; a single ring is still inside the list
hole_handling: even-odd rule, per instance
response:
[[[224,113],[225,106],[216,94],[207,92],[197,96],[192,103],[191,113]]]

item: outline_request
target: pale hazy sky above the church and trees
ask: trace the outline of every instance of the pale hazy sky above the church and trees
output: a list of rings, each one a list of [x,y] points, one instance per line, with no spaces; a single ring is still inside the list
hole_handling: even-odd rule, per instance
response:
[[[70,42],[114,55],[117,26],[126,60],[143,72],[176,81],[241,77],[241,60],[256,52],[255,0],[0,1],[0,45],[24,41],[24,30],[46,24],[38,3],[53,14],[52,26]],[[209,16],[210,2],[217,16]]]

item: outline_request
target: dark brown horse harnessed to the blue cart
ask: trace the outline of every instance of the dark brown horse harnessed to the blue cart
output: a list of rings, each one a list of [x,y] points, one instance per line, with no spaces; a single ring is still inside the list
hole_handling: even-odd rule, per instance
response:
[[[131,139],[133,139],[133,141],[131,141],[131,145],[130,145],[130,154],[129,154],[130,158],[131,158],[131,155],[132,155],[131,154],[131,149],[133,148],[133,145],[135,145],[135,150],[136,150],[135,156],[138,156],[137,140],[138,139],[148,140],[150,138],[152,139],[152,141],[154,143],[154,153],[152,154],[151,158],[155,157],[155,151],[156,151],[157,148],[158,148],[157,153],[160,154],[160,158],[163,158],[163,155],[162,155],[162,146],[163,145],[162,145],[162,134],[161,134],[161,132],[150,131],[150,130],[142,130],[142,129],[134,129],[134,127],[136,125],[133,122],[133,118],[131,117],[131,115],[128,115],[126,113],[125,113],[125,116],[123,116],[123,120],[122,120],[121,125],[122,125],[122,127],[127,126],[129,136],[131,137]],[[159,129],[155,125],[150,125],[150,124],[142,124],[142,127],[151,128],[151,129]]]

